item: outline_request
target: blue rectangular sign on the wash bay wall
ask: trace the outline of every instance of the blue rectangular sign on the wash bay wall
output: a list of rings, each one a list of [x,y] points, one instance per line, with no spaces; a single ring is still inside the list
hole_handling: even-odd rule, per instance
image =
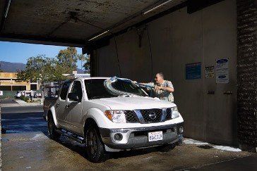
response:
[[[186,64],[186,80],[201,79],[201,63]]]

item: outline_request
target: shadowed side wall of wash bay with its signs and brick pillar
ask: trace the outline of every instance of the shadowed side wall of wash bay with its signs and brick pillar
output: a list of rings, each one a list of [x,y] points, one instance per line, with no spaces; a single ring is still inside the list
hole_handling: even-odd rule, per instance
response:
[[[186,137],[254,148],[256,35],[246,35],[253,10],[246,4],[221,1],[198,11],[179,6],[135,25],[92,51],[92,74],[150,82],[163,72],[174,84]]]

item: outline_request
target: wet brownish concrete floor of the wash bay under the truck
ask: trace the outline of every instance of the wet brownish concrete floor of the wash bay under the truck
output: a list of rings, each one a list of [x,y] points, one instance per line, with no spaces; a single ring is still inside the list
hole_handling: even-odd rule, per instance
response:
[[[105,163],[95,164],[84,156],[83,145],[65,137],[52,141],[42,132],[26,132],[4,134],[2,138],[3,170],[211,170],[214,165],[215,168],[228,170],[234,165],[231,163],[236,163],[236,168],[243,170],[238,158],[249,161],[247,157],[252,155],[247,152],[227,152],[182,145],[166,153],[156,151],[155,148],[114,153]],[[220,163],[223,166],[217,167]],[[256,169],[248,164],[244,166],[247,169]]]

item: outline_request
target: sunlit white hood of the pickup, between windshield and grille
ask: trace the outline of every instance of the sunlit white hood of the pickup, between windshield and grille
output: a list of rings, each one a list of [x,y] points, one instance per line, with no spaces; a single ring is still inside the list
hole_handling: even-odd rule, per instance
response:
[[[92,102],[109,106],[112,110],[136,110],[150,108],[171,108],[176,106],[169,101],[142,96],[119,96],[112,98],[94,99]]]

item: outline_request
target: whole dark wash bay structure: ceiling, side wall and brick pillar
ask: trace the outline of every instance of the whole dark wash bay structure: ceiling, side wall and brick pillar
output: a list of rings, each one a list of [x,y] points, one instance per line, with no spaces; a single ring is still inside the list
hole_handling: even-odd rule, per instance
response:
[[[83,47],[92,76],[163,72],[185,137],[256,151],[254,1],[0,3],[1,40]]]

